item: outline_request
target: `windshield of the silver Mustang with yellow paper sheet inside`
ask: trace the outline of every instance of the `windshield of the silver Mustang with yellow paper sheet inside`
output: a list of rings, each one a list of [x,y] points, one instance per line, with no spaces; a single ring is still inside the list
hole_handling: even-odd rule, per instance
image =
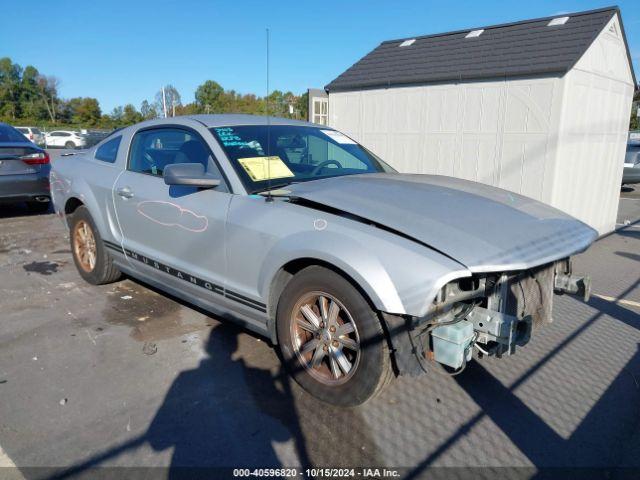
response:
[[[242,125],[211,131],[251,193],[320,178],[394,171],[335,130]]]

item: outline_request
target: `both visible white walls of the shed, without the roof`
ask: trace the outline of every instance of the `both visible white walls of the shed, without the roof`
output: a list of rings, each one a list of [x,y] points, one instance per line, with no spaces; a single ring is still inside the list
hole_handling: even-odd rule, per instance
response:
[[[505,188],[603,234],[615,227],[632,95],[614,17],[563,77],[330,93],[329,124],[401,172]]]

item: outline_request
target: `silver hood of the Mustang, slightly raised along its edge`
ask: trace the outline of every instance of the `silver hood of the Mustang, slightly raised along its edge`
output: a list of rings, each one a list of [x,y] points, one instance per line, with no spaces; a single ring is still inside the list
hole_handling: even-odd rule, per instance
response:
[[[585,250],[594,229],[553,207],[438,175],[348,175],[287,187],[298,197],[410,237],[472,272],[520,270]]]

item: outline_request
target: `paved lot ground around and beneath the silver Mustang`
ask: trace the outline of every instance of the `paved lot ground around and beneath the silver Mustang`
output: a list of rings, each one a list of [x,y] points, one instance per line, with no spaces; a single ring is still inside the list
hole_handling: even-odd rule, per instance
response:
[[[640,199],[624,196],[630,225],[575,265],[600,296],[556,297],[512,358],[400,378],[357,409],[310,398],[251,333],[136,281],[83,283],[56,217],[0,206],[0,466],[640,467]]]

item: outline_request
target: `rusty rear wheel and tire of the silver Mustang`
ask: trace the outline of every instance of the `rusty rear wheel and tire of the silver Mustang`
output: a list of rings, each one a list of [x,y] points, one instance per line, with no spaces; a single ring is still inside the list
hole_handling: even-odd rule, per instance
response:
[[[73,212],[70,226],[71,254],[80,276],[93,285],[119,280],[122,273],[113,264],[86,207],[80,206]]]

